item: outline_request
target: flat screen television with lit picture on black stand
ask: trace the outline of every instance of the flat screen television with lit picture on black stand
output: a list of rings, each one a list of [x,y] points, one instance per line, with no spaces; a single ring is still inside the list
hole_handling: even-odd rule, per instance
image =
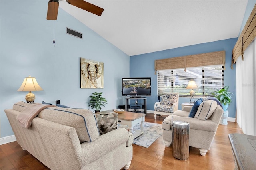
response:
[[[151,96],[151,78],[122,78],[122,96]]]

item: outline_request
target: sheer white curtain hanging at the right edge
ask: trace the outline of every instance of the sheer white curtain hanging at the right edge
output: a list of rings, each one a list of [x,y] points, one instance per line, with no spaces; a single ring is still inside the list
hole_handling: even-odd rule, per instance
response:
[[[244,134],[256,136],[256,39],[236,61],[236,121]]]

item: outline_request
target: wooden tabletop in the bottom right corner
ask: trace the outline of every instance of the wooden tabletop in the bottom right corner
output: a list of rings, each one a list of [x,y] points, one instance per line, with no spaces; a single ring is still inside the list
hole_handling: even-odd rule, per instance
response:
[[[228,134],[235,166],[239,170],[256,169],[256,136],[246,134]]]

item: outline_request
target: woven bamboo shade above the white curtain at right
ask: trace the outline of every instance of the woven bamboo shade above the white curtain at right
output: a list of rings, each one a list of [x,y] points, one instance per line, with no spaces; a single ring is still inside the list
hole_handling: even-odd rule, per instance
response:
[[[256,4],[242,30],[236,45],[232,51],[232,64],[236,63],[236,60],[241,55],[244,60],[244,51],[250,45],[250,43],[256,37]],[[232,68],[232,65],[231,65]]]

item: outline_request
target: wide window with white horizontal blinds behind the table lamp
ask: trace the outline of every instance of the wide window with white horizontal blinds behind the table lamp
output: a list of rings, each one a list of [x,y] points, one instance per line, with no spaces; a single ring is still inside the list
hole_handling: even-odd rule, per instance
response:
[[[183,69],[157,71],[158,95],[179,92],[180,96],[190,96],[191,89],[186,89],[188,82],[194,80],[198,89],[193,89],[196,96],[214,96],[215,89],[224,88],[224,67],[213,65]]]

